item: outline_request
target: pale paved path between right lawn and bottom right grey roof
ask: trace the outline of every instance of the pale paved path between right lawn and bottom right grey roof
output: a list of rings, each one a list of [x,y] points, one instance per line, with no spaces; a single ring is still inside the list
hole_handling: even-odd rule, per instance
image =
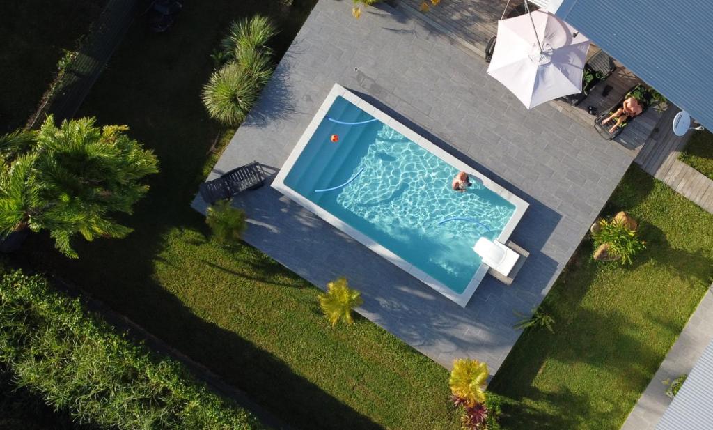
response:
[[[671,399],[662,381],[688,374],[713,339],[713,285],[691,315],[653,379],[624,422],[622,430],[654,430]]]

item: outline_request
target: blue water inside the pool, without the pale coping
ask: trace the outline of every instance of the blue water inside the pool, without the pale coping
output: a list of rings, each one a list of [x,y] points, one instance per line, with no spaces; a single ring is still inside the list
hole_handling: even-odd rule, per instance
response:
[[[473,178],[466,193],[451,190],[456,168],[372,119],[337,97],[284,184],[463,292],[481,265],[473,245],[482,236],[498,237],[515,205]],[[333,134],[339,142],[332,143]]]

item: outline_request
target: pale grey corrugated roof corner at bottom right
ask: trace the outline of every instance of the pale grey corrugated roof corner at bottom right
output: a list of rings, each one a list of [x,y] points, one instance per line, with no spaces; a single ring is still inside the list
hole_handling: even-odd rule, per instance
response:
[[[713,429],[713,342],[696,362],[656,430]]]

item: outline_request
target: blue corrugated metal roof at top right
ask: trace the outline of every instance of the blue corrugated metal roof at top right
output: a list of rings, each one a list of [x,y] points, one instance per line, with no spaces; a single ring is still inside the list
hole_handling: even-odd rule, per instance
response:
[[[711,0],[563,0],[560,18],[713,129]]]

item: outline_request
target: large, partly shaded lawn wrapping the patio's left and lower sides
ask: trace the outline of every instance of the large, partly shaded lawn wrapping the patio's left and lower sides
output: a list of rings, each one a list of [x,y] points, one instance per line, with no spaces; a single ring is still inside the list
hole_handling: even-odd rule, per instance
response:
[[[314,0],[284,3],[187,1],[159,35],[135,22],[80,112],[128,124],[160,159],[148,197],[126,218],[135,232],[78,241],[74,261],[36,235],[14,262],[81,285],[297,428],[457,429],[445,369],[365,319],[332,329],[317,288],[252,247],[207,240],[189,207],[224,131],[200,101],[209,55],[232,19],[256,12],[276,19],[274,47],[284,52]]]

